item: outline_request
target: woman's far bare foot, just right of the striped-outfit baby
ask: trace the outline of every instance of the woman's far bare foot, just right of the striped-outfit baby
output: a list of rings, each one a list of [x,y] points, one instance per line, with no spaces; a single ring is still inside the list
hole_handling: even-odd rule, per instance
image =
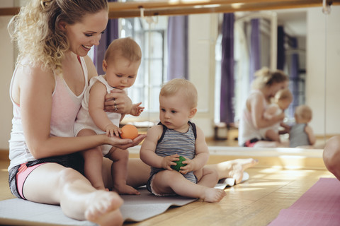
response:
[[[244,169],[253,167],[258,163],[258,160],[246,158],[220,162],[215,165],[207,165],[207,167],[215,168],[218,172],[219,179],[234,178],[236,183],[239,183],[242,181]]]

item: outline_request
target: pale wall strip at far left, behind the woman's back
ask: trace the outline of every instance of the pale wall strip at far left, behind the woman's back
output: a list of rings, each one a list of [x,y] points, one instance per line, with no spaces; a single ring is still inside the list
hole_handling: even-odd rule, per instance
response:
[[[1,0],[0,7],[13,7],[13,1]],[[14,67],[13,44],[7,31],[11,16],[0,16],[0,150],[8,149],[11,133],[12,104],[9,99],[9,84]]]

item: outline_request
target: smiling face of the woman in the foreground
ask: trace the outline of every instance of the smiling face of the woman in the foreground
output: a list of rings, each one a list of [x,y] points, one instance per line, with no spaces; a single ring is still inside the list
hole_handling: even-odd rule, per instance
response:
[[[79,23],[69,25],[60,22],[67,34],[69,50],[80,57],[85,57],[91,47],[99,44],[101,34],[108,23],[108,11],[102,10],[94,14],[86,14]]]

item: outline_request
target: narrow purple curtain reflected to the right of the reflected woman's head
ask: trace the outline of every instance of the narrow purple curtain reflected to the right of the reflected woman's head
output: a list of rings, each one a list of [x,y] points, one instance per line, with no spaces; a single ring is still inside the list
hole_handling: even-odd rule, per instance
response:
[[[293,49],[297,49],[297,38],[290,37],[290,44]],[[294,116],[295,107],[299,105],[299,54],[294,53],[291,56],[291,66],[290,66],[290,81],[291,84],[290,90],[293,93],[293,103],[290,105],[290,117]]]

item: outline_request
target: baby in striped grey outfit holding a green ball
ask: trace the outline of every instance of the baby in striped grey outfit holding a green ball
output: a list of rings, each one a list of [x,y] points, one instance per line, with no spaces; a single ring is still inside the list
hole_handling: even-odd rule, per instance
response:
[[[214,189],[217,173],[203,169],[209,151],[203,131],[193,124],[197,112],[197,90],[193,83],[176,78],[159,94],[160,124],[147,131],[140,158],[151,166],[147,189],[154,195],[178,194],[218,202],[226,194]],[[185,157],[179,171],[171,168],[179,156]]]

